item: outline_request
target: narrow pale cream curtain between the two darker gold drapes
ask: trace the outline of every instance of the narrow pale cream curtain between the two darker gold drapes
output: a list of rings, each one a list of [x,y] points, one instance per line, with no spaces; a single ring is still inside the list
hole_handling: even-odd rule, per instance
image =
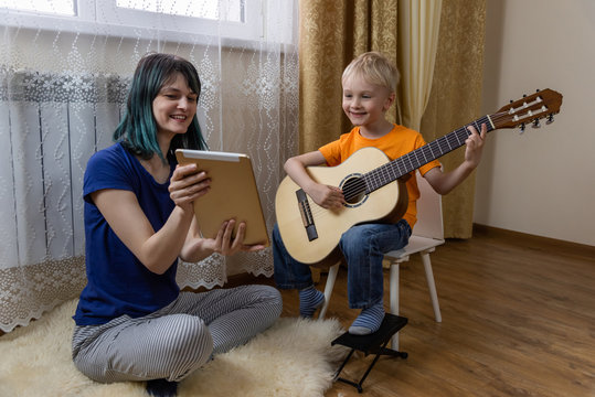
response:
[[[442,0],[399,1],[399,71],[402,124],[419,131],[429,99]]]

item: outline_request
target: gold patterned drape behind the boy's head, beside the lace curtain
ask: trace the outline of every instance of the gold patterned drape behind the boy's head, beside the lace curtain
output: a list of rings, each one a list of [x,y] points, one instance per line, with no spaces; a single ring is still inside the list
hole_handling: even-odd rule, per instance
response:
[[[316,150],[351,129],[341,75],[351,60],[380,51],[396,63],[396,0],[299,2],[299,149]],[[389,110],[396,120],[396,108]]]

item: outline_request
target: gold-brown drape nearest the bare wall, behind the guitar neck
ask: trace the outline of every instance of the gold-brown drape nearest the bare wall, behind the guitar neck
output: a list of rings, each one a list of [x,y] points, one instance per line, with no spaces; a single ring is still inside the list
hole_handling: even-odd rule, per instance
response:
[[[443,2],[432,94],[422,118],[426,141],[479,118],[484,78],[485,0]],[[490,142],[488,141],[488,144]],[[446,171],[460,164],[465,149],[443,157]],[[443,197],[446,237],[470,238],[475,173]]]

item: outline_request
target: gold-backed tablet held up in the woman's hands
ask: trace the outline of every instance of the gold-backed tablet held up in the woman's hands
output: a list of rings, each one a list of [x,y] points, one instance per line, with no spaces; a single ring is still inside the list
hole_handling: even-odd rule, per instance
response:
[[[176,150],[179,164],[196,163],[211,179],[211,190],[194,201],[194,214],[206,238],[214,238],[223,222],[246,223],[244,244],[269,245],[261,197],[248,155],[203,150]]]

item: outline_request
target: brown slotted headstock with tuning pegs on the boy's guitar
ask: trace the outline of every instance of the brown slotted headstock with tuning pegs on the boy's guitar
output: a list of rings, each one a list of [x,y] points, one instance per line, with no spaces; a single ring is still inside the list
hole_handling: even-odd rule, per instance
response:
[[[495,129],[516,128],[524,130],[527,124],[532,122],[534,128],[540,127],[539,120],[548,118],[546,124],[554,120],[554,115],[560,112],[562,94],[550,88],[539,90],[519,100],[502,106],[497,114],[490,115]]]

